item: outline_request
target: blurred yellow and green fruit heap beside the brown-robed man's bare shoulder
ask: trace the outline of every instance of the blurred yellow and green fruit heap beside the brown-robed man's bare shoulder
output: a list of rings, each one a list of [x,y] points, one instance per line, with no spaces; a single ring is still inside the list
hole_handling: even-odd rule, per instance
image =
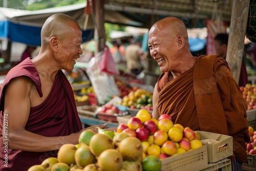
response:
[[[123,96],[122,101],[117,104],[128,106],[131,109],[146,109],[152,111],[152,92],[134,87],[133,90],[128,95]]]

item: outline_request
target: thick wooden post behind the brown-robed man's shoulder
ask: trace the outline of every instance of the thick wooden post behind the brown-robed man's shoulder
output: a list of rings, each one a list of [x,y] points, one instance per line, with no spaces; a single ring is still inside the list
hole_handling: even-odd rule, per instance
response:
[[[232,7],[226,60],[237,82],[241,71],[249,4],[249,0],[234,0]]]

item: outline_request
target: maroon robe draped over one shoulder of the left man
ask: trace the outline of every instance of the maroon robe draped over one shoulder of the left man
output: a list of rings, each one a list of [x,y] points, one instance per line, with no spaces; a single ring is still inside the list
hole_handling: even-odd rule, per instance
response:
[[[0,170],[2,171],[24,171],[32,165],[41,164],[41,162],[48,157],[57,156],[57,151],[25,152],[8,148],[8,167],[5,166],[5,155],[7,153],[5,152],[5,146],[3,146],[2,135],[4,113],[3,92],[9,81],[18,76],[30,77],[34,81],[38,96],[42,97],[40,78],[30,58],[25,59],[22,63],[19,63],[19,65],[9,71],[0,92]],[[13,107],[15,108],[15,106]],[[51,92],[47,99],[38,106],[34,106],[30,109],[30,115],[25,129],[29,132],[47,137],[67,136],[82,129],[82,124],[76,110],[72,87],[61,70],[59,70],[55,76]]]

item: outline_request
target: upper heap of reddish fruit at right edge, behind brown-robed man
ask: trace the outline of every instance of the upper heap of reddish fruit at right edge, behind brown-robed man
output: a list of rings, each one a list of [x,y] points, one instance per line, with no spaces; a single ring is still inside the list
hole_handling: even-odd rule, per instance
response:
[[[248,110],[256,109],[256,84],[247,83],[245,86],[241,86],[240,90],[247,102]]]

